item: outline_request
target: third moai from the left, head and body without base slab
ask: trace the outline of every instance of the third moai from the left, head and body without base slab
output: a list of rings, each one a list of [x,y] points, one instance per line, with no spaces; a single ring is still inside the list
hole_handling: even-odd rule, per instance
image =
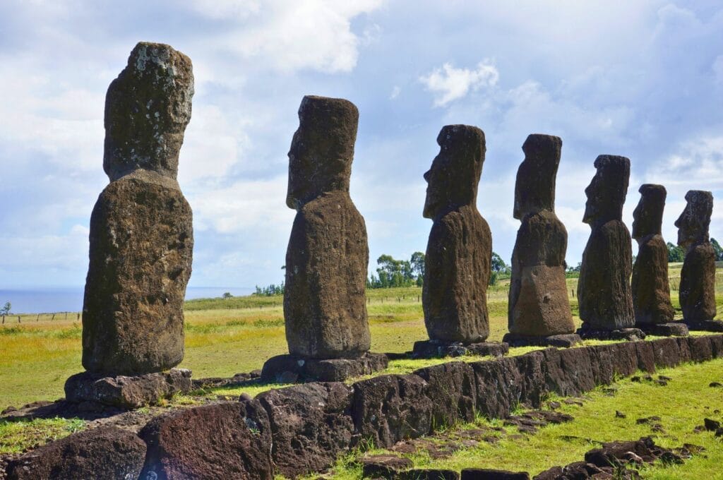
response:
[[[422,307],[432,340],[482,342],[489,335],[487,284],[492,234],[476,207],[484,163],[484,132],[448,125],[440,153],[424,173],[424,217],[434,221],[425,257]]]

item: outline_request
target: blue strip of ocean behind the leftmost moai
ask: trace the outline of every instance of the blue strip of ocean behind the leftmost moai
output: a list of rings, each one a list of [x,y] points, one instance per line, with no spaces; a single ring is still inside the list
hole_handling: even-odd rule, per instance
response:
[[[0,307],[9,301],[13,314],[80,312],[83,308],[84,287],[0,288]],[[229,292],[234,296],[250,295],[251,287],[189,287],[186,299],[220,297]]]

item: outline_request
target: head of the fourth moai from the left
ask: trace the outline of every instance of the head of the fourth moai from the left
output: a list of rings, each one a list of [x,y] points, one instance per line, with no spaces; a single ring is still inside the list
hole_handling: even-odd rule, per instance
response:
[[[555,211],[555,178],[560,150],[560,137],[531,134],[525,140],[522,145],[525,159],[517,170],[515,182],[513,215],[518,220],[540,210]]]

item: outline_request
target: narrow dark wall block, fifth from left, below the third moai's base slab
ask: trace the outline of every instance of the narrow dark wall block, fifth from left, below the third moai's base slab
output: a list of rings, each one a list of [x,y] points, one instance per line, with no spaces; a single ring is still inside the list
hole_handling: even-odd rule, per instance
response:
[[[435,427],[456,421],[474,421],[477,385],[474,370],[461,361],[419,369],[414,372],[427,382],[427,397],[432,400],[432,424]]]

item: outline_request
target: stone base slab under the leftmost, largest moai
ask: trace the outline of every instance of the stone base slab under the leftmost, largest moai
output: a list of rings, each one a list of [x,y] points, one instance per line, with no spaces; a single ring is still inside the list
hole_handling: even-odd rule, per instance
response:
[[[100,403],[119,408],[140,408],[192,390],[191,371],[171,369],[145,375],[118,375],[82,372],[65,382],[65,398],[71,403]]]

